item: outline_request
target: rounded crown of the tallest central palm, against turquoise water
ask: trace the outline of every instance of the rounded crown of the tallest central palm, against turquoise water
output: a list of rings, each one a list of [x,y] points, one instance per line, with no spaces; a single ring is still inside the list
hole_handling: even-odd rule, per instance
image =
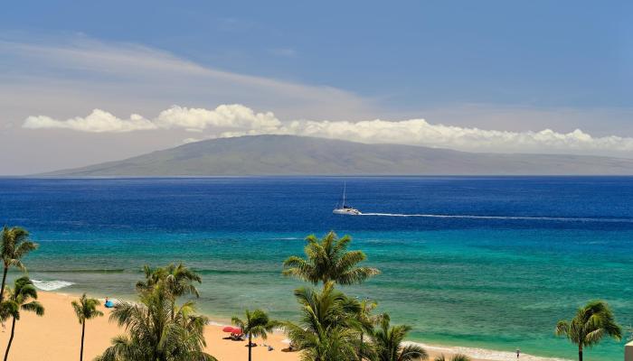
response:
[[[338,284],[361,283],[380,273],[376,268],[356,266],[366,256],[362,251],[347,251],[347,246],[352,242],[350,236],[338,238],[331,231],[321,240],[314,235],[307,236],[306,240],[306,258],[296,255],[288,257],[284,262],[284,275],[295,276],[316,285],[329,281]]]

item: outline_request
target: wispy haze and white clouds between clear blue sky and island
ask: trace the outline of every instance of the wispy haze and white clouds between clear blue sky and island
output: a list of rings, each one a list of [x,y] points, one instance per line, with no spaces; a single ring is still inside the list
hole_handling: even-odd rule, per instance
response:
[[[406,89],[363,93],[345,81],[222,69],[186,53],[83,33],[0,32],[0,53],[0,174],[243,134],[633,158],[629,106],[421,97],[402,104],[395,100],[407,97]]]

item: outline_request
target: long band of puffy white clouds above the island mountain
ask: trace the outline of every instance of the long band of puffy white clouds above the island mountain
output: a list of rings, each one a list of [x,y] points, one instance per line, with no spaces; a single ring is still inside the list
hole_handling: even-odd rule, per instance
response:
[[[432,124],[424,119],[364,121],[281,120],[272,112],[256,112],[240,104],[214,109],[171,106],[156,117],[132,114],[119,118],[94,109],[88,116],[54,119],[29,116],[24,128],[61,128],[89,133],[128,133],[182,129],[197,133],[184,143],[218,137],[255,134],[292,134],[342,139],[360,143],[396,143],[456,149],[469,152],[511,153],[615,153],[633,151],[633,138],[592,136],[576,129],[558,133],[551,129],[511,132]]]

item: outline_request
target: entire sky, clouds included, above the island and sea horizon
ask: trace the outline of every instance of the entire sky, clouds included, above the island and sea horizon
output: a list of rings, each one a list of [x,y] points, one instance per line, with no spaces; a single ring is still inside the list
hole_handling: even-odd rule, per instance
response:
[[[21,1],[0,175],[244,134],[633,157],[629,1]]]

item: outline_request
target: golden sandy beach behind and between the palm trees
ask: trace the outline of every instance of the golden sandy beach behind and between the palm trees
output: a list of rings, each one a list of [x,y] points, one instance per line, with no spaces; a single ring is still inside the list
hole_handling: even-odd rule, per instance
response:
[[[80,348],[80,324],[77,321],[71,308],[71,301],[80,295],[73,292],[39,291],[39,301],[43,303],[45,314],[37,317],[33,313],[23,312],[21,319],[16,323],[14,344],[11,348],[9,359],[14,360],[38,360],[48,359],[51,361],[62,361],[78,356]],[[103,299],[99,299],[103,302]],[[104,312],[104,317],[90,319],[86,324],[85,359],[92,359],[100,355],[106,347],[109,347],[111,338],[124,333],[116,324],[109,322],[109,310],[103,305],[99,310]],[[209,324],[204,329],[204,338],[207,342],[206,352],[218,358],[220,361],[232,361],[234,359],[245,359],[248,347],[245,342],[231,341],[223,339],[226,333],[222,332],[222,327],[230,322],[222,318],[213,317],[202,312],[209,317]],[[0,333],[0,343],[5,347],[10,334],[10,322],[6,322],[5,329]],[[258,345],[266,344],[274,348],[268,351],[267,347],[253,347],[254,359],[270,359],[274,356],[279,361],[298,361],[299,352],[282,352],[288,347],[286,335],[279,330],[271,333],[266,341],[261,338],[254,340]],[[444,354],[453,356],[461,353],[472,357],[473,361],[514,361],[515,353],[489,350],[475,347],[458,347],[428,345],[421,342],[407,341],[424,347],[429,353],[429,360],[435,356]],[[36,345],[36,347],[33,347]],[[563,361],[562,358],[552,358],[543,356],[531,356],[521,354],[522,361]],[[566,361],[566,360],[565,360]]]

